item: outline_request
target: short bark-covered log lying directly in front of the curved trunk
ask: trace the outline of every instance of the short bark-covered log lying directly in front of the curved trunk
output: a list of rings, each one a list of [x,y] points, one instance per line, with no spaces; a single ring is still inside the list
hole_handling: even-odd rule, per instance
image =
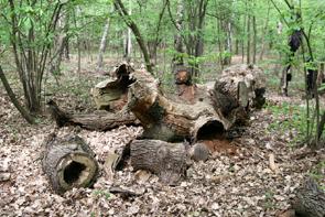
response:
[[[162,183],[176,185],[185,175],[187,155],[183,143],[134,140],[130,156],[134,171],[148,170],[158,174]]]

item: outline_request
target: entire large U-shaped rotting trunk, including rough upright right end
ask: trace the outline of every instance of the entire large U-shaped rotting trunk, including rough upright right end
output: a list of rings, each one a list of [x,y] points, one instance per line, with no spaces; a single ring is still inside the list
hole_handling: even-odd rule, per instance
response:
[[[246,119],[250,107],[264,101],[263,75],[254,66],[236,69],[229,70],[228,77],[225,70],[213,90],[187,86],[188,96],[182,94],[183,98],[178,96],[178,99],[162,94],[159,82],[145,70],[133,72],[131,76],[137,82],[130,85],[128,108],[144,128],[142,139],[196,141],[221,133]]]

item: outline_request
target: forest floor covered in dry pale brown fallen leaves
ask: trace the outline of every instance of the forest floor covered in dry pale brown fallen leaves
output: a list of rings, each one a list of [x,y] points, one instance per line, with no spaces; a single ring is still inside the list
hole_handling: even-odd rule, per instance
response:
[[[65,108],[88,112],[94,104],[89,88],[102,76],[91,70],[66,70],[61,86],[50,85],[46,96]],[[267,105],[253,111],[241,137],[231,141],[235,153],[218,152],[194,163],[178,186],[164,186],[158,176],[134,173],[130,166],[113,180],[104,173],[94,188],[53,193],[41,167],[41,147],[55,123],[44,113],[29,126],[0,88],[0,216],[277,216],[305,176],[325,186],[325,151],[297,147],[303,140],[304,100],[301,91],[279,97],[269,88]],[[322,98],[325,102],[325,98]],[[97,154],[102,167],[106,154],[141,133],[141,128],[120,127],[108,132],[65,127],[59,134],[78,131]],[[277,170],[270,167],[270,155]],[[132,189],[138,196],[123,199],[110,186]]]

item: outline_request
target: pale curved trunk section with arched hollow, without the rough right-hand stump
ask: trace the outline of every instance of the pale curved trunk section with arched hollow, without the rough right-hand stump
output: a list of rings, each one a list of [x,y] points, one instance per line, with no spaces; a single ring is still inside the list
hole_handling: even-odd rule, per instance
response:
[[[177,104],[167,99],[159,89],[159,82],[145,70],[132,74],[136,83],[130,86],[128,108],[144,128],[142,139],[183,141],[197,139],[199,129],[206,124],[218,130],[228,129],[231,122],[202,97],[193,105]],[[207,91],[205,91],[207,94]]]

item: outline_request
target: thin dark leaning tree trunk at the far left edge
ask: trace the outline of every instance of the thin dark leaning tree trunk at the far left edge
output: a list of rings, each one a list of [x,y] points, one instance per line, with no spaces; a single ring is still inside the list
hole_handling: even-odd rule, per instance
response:
[[[11,102],[14,105],[14,107],[19,110],[19,112],[21,113],[21,116],[31,124],[34,124],[35,123],[35,120],[34,118],[29,113],[29,111],[19,102],[19,100],[17,99],[14,93],[12,91],[8,80],[7,80],[7,77],[2,70],[2,67],[0,65],[0,79],[3,84],[3,87],[11,100]]]

